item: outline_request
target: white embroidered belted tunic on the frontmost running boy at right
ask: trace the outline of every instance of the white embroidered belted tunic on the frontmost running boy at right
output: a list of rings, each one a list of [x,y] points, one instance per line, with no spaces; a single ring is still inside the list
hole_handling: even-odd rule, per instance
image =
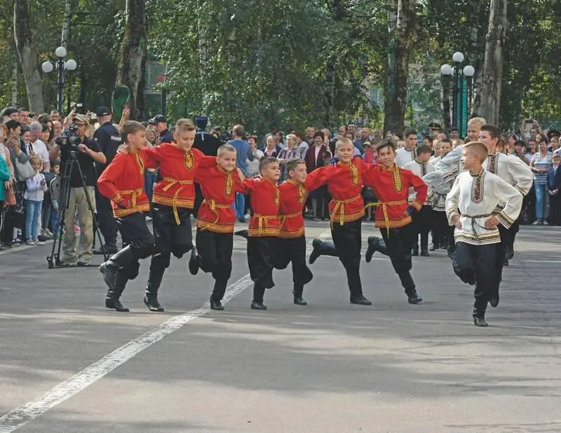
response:
[[[471,245],[501,242],[498,228],[487,230],[485,221],[494,214],[497,205],[503,209],[496,214],[506,228],[510,228],[522,209],[522,194],[495,174],[481,170],[478,174],[463,172],[458,175],[446,198],[446,216],[460,216],[461,228],[454,230],[456,242]]]

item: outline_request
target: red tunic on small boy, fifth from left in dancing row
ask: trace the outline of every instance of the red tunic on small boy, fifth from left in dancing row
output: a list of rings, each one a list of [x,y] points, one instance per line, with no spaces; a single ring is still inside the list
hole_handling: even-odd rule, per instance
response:
[[[298,238],[304,235],[304,217],[302,211],[306,205],[309,191],[325,184],[327,172],[314,170],[306,176],[304,184],[288,179],[278,186],[280,191],[280,214],[282,221],[279,238]]]

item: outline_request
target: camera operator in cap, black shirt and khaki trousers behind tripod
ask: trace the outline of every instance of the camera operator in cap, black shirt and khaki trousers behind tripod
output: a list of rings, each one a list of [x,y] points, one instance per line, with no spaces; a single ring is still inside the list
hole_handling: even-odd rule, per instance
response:
[[[76,264],[78,266],[88,266],[92,258],[93,217],[88,207],[88,199],[83,186],[86,185],[88,197],[93,205],[95,203],[93,191],[97,179],[94,162],[104,164],[107,159],[95,140],[88,137],[89,132],[90,121],[88,117],[83,114],[74,114],[72,126],[67,131],[67,137],[61,137],[49,153],[51,160],[55,160],[60,155],[63,175],[66,171],[67,161],[70,159],[77,161],[83,174],[83,179],[81,179],[76,162],[72,163],[72,176],[69,179],[69,202],[65,211],[65,233],[62,235],[64,255],[61,262],[65,265],[72,264],[77,260],[78,263]],[[75,142],[79,142],[79,144]],[[65,203],[62,203],[62,205],[64,206]],[[74,234],[76,209],[80,225],[80,243],[77,254],[76,235]]]

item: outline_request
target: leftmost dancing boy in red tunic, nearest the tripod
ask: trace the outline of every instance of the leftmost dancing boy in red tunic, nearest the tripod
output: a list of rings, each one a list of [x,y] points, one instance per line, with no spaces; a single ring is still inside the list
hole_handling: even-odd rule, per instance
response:
[[[102,195],[111,200],[123,244],[121,251],[102,263],[100,271],[109,287],[105,306],[117,311],[128,311],[119,300],[126,282],[138,275],[139,259],[154,254],[154,237],[150,233],[144,214],[150,204],[144,192],[144,169],[149,158],[140,150],[146,143],[146,128],[141,123],[127,121],[121,130],[123,142],[129,152],[119,153],[97,179]]]

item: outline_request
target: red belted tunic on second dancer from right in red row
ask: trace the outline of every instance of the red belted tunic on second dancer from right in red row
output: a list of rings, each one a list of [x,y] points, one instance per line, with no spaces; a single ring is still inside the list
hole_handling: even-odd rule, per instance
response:
[[[372,167],[360,158],[350,163],[339,161],[336,165],[318,168],[327,180],[332,200],[329,203],[331,223],[345,224],[364,216],[363,174]]]

